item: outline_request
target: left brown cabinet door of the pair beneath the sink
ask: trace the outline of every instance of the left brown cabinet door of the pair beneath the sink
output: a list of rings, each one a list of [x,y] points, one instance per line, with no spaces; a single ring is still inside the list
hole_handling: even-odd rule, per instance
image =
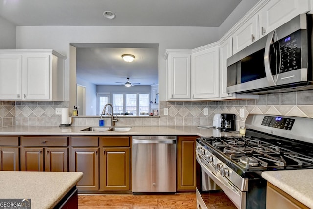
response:
[[[72,171],[83,172],[80,190],[99,190],[99,148],[72,148]]]

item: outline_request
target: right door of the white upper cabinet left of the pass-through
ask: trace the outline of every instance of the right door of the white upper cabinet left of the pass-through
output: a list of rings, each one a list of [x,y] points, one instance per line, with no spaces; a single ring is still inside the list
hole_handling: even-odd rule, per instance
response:
[[[23,55],[23,99],[50,99],[50,55]]]

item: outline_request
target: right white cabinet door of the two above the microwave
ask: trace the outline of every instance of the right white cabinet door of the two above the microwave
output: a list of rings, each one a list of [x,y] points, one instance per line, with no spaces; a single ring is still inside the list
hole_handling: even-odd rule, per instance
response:
[[[270,0],[259,12],[260,36],[310,10],[310,0]]]

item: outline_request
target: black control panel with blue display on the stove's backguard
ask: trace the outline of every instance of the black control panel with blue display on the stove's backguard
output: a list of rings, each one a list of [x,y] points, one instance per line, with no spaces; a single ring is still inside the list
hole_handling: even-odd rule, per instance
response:
[[[263,118],[261,125],[273,127],[273,128],[291,130],[294,124],[294,121],[295,119],[292,119],[292,118],[265,116]]]

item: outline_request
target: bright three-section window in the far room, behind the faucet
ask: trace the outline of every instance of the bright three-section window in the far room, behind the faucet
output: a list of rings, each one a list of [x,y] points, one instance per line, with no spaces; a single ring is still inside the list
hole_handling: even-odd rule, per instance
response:
[[[149,93],[113,93],[114,114],[149,114]]]

